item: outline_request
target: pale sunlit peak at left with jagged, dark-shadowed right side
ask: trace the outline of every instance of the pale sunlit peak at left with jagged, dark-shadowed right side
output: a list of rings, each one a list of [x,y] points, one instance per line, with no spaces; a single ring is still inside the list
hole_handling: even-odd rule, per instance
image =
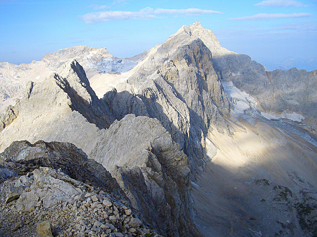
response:
[[[107,105],[96,97],[76,61],[44,82],[30,82],[13,110],[19,111],[19,116],[1,132],[1,150],[15,140],[26,139],[33,143],[69,141],[90,154],[98,127],[107,128],[112,120]]]

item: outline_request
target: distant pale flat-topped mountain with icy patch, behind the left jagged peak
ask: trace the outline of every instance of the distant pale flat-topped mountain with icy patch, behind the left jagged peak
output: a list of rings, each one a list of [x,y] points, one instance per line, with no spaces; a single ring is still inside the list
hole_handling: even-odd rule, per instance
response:
[[[33,60],[29,64],[0,63],[0,112],[14,105],[17,98],[21,98],[25,83],[29,81],[42,82],[52,72],[56,72],[68,61],[76,60],[85,70],[88,77],[102,72],[122,72],[133,68],[138,60],[114,58],[106,48],[92,48],[88,46],[74,46],[46,54],[42,60]]]

